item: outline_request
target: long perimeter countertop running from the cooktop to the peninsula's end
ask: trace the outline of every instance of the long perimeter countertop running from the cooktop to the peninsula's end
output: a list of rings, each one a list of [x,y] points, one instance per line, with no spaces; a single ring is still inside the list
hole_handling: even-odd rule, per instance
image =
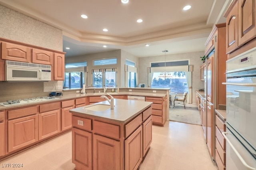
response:
[[[165,97],[166,93],[144,93],[144,92],[119,92],[119,93],[109,93],[112,96],[115,95],[137,95],[137,96],[146,96],[146,97]],[[63,96],[56,97],[56,99],[51,99],[49,101],[42,101],[42,102],[36,102],[36,103],[28,103],[28,104],[22,104],[22,105],[10,105],[10,106],[2,106],[0,105],[0,110],[4,109],[13,109],[13,108],[18,108],[18,107],[24,107],[24,106],[32,106],[32,105],[38,105],[38,104],[45,104],[49,102],[56,102],[56,101],[63,101],[63,100],[68,100],[68,99],[76,99],[79,97],[92,97],[92,96],[101,96],[101,95],[106,95],[106,93],[86,93],[86,94],[81,94],[81,93],[73,93],[73,94],[64,94]]]

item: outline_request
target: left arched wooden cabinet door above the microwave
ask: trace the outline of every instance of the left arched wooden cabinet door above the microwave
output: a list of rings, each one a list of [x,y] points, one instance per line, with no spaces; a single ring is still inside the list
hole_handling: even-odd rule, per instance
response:
[[[31,62],[31,48],[9,42],[2,42],[2,59]]]

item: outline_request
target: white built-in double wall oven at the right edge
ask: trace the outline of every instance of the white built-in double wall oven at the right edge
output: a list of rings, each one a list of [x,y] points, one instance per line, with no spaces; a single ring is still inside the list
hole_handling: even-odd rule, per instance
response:
[[[256,47],[226,66],[226,170],[256,170]]]

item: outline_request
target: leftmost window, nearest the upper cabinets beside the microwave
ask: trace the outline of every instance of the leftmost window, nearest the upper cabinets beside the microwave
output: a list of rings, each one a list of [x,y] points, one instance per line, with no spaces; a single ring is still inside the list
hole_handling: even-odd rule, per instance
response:
[[[63,89],[81,89],[83,84],[86,84],[86,65],[86,61],[65,64],[65,79],[63,81]]]

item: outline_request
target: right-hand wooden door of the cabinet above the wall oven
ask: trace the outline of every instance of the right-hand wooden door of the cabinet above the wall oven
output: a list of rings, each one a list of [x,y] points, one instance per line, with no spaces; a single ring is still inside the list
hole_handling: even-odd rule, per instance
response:
[[[238,43],[242,45],[256,37],[256,2],[239,0]]]

